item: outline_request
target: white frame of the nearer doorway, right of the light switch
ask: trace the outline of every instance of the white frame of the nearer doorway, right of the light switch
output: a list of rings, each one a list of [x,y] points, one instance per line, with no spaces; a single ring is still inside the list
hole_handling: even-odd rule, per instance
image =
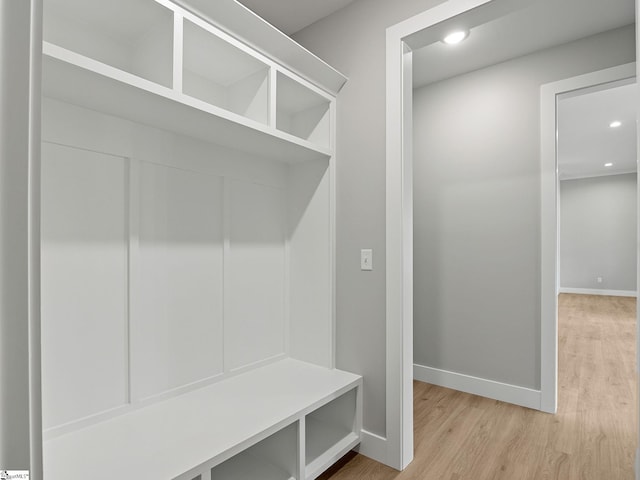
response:
[[[482,23],[527,0],[449,0],[386,33],[386,463],[413,460],[412,50],[440,38],[447,20],[477,10]]]

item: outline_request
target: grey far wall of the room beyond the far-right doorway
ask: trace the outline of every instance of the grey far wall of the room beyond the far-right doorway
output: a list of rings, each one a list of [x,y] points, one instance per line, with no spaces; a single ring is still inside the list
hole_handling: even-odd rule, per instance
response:
[[[635,173],[560,182],[561,289],[636,290],[636,192]]]

